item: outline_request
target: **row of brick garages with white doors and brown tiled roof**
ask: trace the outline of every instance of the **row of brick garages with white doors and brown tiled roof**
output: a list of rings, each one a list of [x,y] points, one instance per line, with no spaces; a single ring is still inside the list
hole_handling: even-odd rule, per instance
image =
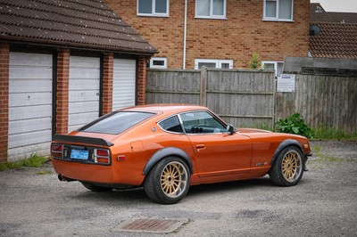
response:
[[[100,0],[0,0],[0,162],[145,103],[156,48]]]

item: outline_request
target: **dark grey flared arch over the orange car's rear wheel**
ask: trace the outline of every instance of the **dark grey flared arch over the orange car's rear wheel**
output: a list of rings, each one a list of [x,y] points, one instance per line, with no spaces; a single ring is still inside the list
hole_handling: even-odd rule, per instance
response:
[[[143,170],[143,175],[146,175],[158,161],[160,161],[161,159],[164,159],[165,157],[168,157],[168,156],[178,156],[178,157],[184,159],[187,162],[187,165],[188,165],[188,168],[190,169],[191,174],[193,173],[194,168],[193,168],[191,159],[187,155],[187,152],[182,151],[181,149],[176,148],[176,147],[166,147],[166,148],[163,148],[162,150],[156,151],[154,153],[154,155],[149,159],[149,161],[147,161],[145,168]]]

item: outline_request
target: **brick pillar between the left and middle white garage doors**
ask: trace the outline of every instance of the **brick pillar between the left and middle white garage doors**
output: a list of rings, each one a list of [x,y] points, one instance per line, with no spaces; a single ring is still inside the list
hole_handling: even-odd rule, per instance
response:
[[[57,56],[56,134],[68,133],[70,50],[60,48]]]

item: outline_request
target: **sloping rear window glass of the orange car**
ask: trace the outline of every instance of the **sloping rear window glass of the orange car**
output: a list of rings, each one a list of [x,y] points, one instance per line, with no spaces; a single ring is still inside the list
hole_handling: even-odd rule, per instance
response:
[[[85,127],[81,127],[79,131],[118,135],[152,116],[154,116],[154,113],[133,111],[112,112]]]

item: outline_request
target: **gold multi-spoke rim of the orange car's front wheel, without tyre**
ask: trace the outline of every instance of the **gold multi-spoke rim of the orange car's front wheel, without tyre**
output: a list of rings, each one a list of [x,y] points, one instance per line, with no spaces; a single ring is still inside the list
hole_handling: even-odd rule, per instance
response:
[[[296,151],[286,152],[282,163],[283,176],[288,182],[294,182],[302,172],[302,158]]]

